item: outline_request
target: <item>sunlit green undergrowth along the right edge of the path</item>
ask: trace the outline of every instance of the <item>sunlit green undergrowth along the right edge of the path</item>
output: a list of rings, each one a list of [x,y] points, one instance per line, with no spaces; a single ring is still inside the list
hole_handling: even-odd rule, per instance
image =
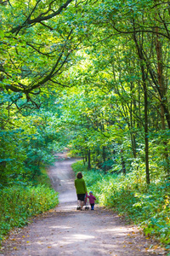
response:
[[[124,217],[140,224],[144,234],[170,244],[170,183],[144,184],[135,172],[126,176],[105,174],[99,170],[87,171],[82,161],[72,165],[74,172],[82,172],[88,191],[93,190],[100,205],[114,208]]]

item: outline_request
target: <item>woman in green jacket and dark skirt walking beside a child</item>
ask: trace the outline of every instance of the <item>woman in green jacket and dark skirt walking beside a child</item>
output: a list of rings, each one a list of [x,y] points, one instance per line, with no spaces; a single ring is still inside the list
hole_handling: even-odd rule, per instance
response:
[[[78,200],[77,210],[82,210],[85,195],[87,193],[86,183],[82,177],[82,172],[77,173],[77,178],[75,179],[75,187],[77,189],[77,200]]]

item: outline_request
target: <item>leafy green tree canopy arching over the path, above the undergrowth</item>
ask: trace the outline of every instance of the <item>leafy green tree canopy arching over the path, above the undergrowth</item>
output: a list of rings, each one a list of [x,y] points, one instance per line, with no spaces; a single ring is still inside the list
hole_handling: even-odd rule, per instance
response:
[[[8,154],[4,139],[4,183],[14,152],[20,152],[14,173],[24,169],[21,176],[32,178],[40,161],[51,161],[54,145],[68,141],[89,169],[107,171],[111,160],[116,172],[128,172],[139,159],[150,183],[155,157],[168,177],[169,4],[12,1],[0,9],[0,129],[10,137],[18,127],[26,141],[17,147],[17,139],[9,139],[14,149]]]

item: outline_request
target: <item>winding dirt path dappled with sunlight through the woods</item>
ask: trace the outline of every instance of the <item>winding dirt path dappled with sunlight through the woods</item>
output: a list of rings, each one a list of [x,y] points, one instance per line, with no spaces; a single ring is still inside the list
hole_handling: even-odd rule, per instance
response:
[[[62,155],[60,155],[62,157]],[[77,195],[71,164],[59,160],[49,170],[59,207],[34,218],[23,229],[14,230],[3,244],[3,256],[148,256],[165,252],[142,236],[133,225],[102,207],[77,211]],[[150,248],[153,245],[156,250]]]

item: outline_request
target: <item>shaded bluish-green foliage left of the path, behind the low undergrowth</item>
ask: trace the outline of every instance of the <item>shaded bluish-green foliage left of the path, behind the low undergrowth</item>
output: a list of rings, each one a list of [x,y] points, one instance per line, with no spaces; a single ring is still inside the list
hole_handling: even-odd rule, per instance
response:
[[[1,186],[11,183],[29,183],[41,174],[41,166],[54,161],[54,151],[65,146],[66,137],[61,137],[57,125],[59,111],[54,98],[43,102],[41,109],[34,109],[22,115],[14,108],[11,117],[7,116],[6,125],[2,120],[0,127],[0,177]],[[6,114],[5,111],[3,112]],[[13,120],[13,123],[10,123]],[[18,128],[20,127],[20,128]],[[63,132],[64,134],[64,132]]]

